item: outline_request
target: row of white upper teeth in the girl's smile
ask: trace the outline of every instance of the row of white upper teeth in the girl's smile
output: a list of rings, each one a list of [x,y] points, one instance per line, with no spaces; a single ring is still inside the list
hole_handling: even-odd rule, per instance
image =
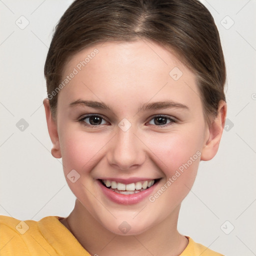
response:
[[[141,188],[146,189],[147,187],[152,186],[154,183],[154,179],[137,181],[130,184],[123,184],[123,183],[116,182],[114,180],[108,180],[108,179],[103,179],[102,181],[107,187],[111,186],[112,189],[117,188],[118,190],[127,190],[127,191],[140,190]]]

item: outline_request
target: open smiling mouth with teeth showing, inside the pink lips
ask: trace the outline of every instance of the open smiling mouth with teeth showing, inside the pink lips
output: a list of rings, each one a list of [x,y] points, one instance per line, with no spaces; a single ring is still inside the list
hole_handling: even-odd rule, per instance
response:
[[[137,181],[130,184],[123,184],[114,180],[99,179],[103,186],[120,194],[134,194],[148,189],[155,185],[160,178]]]

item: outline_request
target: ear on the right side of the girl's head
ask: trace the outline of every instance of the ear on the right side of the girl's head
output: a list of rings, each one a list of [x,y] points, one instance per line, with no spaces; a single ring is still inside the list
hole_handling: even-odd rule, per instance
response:
[[[226,119],[226,102],[220,100],[217,116],[207,126],[206,139],[201,150],[201,160],[208,161],[217,153]]]

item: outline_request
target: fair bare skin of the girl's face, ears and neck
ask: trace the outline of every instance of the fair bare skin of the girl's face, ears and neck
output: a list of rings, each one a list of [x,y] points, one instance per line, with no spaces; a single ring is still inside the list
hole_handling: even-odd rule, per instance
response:
[[[226,104],[219,102],[218,115],[207,124],[194,73],[166,48],[145,39],[85,48],[72,56],[63,77],[95,48],[99,50],[95,57],[58,93],[55,118],[48,100],[43,101],[52,155],[62,157],[66,181],[77,198],[61,222],[92,255],[178,255],[188,243],[177,231],[180,204],[193,185],[200,160],[217,152]],[[183,73],[176,81],[169,75],[174,67]],[[78,99],[104,102],[112,110],[69,105]],[[188,109],[138,111],[143,103],[165,100]],[[105,120],[85,126],[89,118],[77,120],[86,114]],[[163,114],[175,122],[167,119],[165,127],[161,127],[165,122],[157,125],[154,115]],[[123,118],[131,123],[127,131],[118,126]],[[118,204],[98,189],[99,177],[161,178],[153,195],[196,152],[200,157],[154,202],[146,197],[135,204]],[[67,178],[72,169],[80,175],[74,183]],[[126,234],[118,228],[123,221],[131,227]]]

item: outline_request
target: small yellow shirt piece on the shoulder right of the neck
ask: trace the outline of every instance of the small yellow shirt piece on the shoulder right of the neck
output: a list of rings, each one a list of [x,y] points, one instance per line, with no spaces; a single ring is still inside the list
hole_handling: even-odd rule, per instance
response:
[[[188,239],[188,244],[186,248],[183,250],[183,252],[180,254],[180,256],[194,256],[194,255],[200,255],[200,256],[224,256],[221,253],[218,253],[216,251],[213,251],[209,249],[208,247],[195,242],[192,238],[186,236]]]

